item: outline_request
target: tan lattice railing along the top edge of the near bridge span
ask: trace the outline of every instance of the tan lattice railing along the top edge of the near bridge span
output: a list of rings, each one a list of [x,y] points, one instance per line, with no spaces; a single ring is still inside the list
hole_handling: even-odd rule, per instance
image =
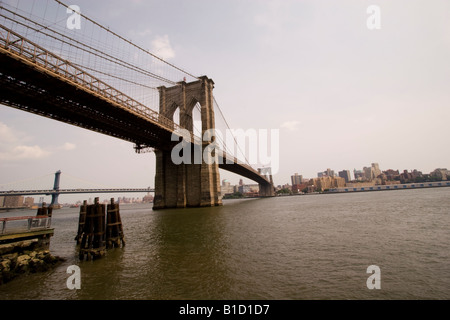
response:
[[[95,92],[101,97],[115,102],[122,108],[126,107],[128,110],[133,111],[140,116],[151,119],[165,129],[181,129],[181,127],[172,120],[114,89],[106,82],[92,76],[82,68],[72,64],[70,61],[42,48],[38,44],[29,41],[3,25],[0,25],[0,28],[2,29],[0,32],[0,45],[6,51],[19,55],[46,70],[50,70],[65,80],[75,82],[80,87],[87,88],[91,92]]]

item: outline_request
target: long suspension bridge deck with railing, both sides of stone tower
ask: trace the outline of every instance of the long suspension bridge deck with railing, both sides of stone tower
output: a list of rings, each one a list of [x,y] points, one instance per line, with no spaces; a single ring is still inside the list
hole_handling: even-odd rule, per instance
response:
[[[173,121],[4,26],[0,86],[0,103],[13,108],[159,150],[172,150],[178,143],[171,141],[177,128]],[[225,152],[219,160],[221,169],[270,183]]]

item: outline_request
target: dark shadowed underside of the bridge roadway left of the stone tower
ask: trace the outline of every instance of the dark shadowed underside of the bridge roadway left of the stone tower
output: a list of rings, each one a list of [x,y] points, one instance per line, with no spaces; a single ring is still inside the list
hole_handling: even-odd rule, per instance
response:
[[[0,87],[1,104],[136,144],[172,148],[170,130],[4,54]]]

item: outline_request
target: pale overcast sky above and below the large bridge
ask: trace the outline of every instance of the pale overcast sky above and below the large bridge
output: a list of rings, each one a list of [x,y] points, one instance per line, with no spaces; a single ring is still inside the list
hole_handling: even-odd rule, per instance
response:
[[[277,185],[296,172],[312,178],[372,162],[450,167],[446,0],[67,4],[212,78],[230,127],[279,129]],[[380,29],[367,27],[369,5],[380,8]],[[56,170],[99,186],[153,187],[155,161],[130,143],[0,106],[0,185]]]

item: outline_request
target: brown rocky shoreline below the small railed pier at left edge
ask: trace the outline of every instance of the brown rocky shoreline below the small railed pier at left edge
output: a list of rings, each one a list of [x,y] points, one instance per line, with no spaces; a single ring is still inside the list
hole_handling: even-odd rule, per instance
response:
[[[39,246],[37,239],[0,245],[0,285],[28,273],[44,272],[64,259]]]

